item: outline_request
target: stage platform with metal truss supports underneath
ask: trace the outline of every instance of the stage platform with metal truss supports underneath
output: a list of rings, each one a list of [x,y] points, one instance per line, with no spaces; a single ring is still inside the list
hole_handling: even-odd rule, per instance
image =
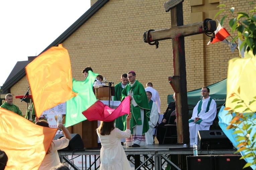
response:
[[[184,158],[187,155],[193,155],[193,148],[187,147],[183,144],[168,144],[168,145],[147,145],[141,147],[127,147],[123,146],[123,149],[130,161],[133,169],[155,169],[162,170],[164,165],[171,166],[173,169],[183,170]],[[234,149],[215,149],[215,150],[198,150],[198,155],[224,155],[224,154],[234,154],[236,150]],[[99,169],[100,160],[100,147],[85,149],[83,151],[58,151],[61,158],[61,162],[67,162],[74,169]],[[69,155],[69,156],[68,156]],[[81,166],[75,165],[74,160],[70,159],[70,156],[74,157],[85,155],[83,158]],[[88,165],[88,155],[89,165]],[[93,161],[91,158],[94,158]],[[177,157],[177,158],[176,158]],[[82,163],[83,162],[83,163]],[[98,164],[97,164],[98,162]],[[86,165],[86,167],[84,166]],[[89,167],[89,168],[88,168]]]

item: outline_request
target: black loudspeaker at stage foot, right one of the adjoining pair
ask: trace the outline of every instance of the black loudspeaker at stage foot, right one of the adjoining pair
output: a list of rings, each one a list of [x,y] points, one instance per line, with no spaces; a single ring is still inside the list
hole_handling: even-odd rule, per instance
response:
[[[241,155],[217,155],[214,156],[215,170],[252,170],[251,167],[243,169],[246,164]]]

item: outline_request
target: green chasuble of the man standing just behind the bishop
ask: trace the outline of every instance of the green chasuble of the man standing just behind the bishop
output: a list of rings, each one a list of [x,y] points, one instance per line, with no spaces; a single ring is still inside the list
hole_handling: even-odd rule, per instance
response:
[[[115,101],[121,101],[122,99],[122,91],[123,91],[123,88],[122,88],[122,85],[121,85],[122,82],[118,83],[115,85],[115,95],[114,95],[114,100]],[[118,118],[115,119],[115,127],[120,129],[121,131],[124,131],[124,123],[126,121],[126,116],[127,115],[123,115],[123,116],[120,116]],[[126,127],[126,125],[125,125]]]

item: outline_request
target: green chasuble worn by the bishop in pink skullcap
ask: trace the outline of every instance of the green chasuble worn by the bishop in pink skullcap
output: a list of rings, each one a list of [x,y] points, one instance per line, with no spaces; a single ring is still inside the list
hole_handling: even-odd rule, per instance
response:
[[[131,94],[134,100],[137,103],[137,106],[134,106],[131,103],[131,134],[133,134],[133,128],[136,125],[142,125],[141,119],[141,109],[144,109],[144,122],[143,122],[143,131],[142,134],[146,133],[149,130],[149,119],[150,119],[150,107],[149,107],[149,100],[147,97],[147,93],[143,87],[143,85],[136,80],[131,86],[129,83],[122,91],[122,100]]]

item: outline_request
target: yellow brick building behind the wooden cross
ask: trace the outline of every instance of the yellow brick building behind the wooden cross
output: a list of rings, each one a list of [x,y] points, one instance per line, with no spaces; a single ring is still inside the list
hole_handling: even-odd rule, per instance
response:
[[[143,33],[171,27],[170,12],[165,12],[163,7],[165,1],[91,0],[92,7],[46,49],[63,43],[69,51],[72,75],[76,80],[84,79],[81,71],[86,66],[115,84],[119,83],[121,74],[134,70],[145,87],[151,81],[158,90],[163,113],[167,95],[174,92],[168,82],[168,76],[173,75],[172,41],[160,41],[156,49],[143,42]],[[184,25],[202,22],[205,18],[214,19],[220,4],[248,12],[253,8],[249,2],[254,0],[184,0]],[[221,14],[218,19],[225,14],[228,13]],[[224,26],[230,32],[229,19],[231,16]],[[228,60],[239,56],[238,50],[232,54],[229,46],[222,42],[207,46],[209,39],[204,34],[185,37],[188,91],[225,79]],[[231,41],[231,37],[227,39]],[[1,89],[3,94],[16,96],[23,95],[27,86],[22,68],[9,76]],[[24,115],[26,103],[14,99],[14,104]]]

